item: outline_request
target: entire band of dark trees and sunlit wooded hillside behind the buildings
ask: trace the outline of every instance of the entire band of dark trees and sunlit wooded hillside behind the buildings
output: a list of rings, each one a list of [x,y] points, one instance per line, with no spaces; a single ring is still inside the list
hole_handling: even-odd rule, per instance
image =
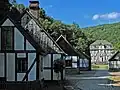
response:
[[[25,9],[23,4],[17,4],[16,2],[13,4],[18,9]],[[78,51],[90,54],[89,46],[95,40],[107,40],[111,42],[116,49],[120,49],[120,23],[80,28],[75,22],[65,24],[61,20],[55,20],[48,16],[43,8],[40,8],[39,14],[40,24],[54,40],[62,34]]]

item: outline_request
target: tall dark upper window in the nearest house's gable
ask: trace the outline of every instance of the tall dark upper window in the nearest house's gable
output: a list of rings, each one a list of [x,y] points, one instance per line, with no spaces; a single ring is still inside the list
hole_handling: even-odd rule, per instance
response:
[[[2,27],[2,50],[13,49],[13,27]]]

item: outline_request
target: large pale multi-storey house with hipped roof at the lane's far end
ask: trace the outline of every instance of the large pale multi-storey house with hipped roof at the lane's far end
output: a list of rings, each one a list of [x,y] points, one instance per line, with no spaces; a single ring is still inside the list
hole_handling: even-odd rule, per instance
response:
[[[90,45],[91,62],[93,64],[108,64],[113,55],[112,44],[106,40],[97,40]]]

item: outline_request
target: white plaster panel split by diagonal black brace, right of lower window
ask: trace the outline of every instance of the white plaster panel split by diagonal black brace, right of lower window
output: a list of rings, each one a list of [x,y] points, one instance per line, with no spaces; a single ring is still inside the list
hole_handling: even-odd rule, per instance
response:
[[[32,65],[35,58],[36,58],[36,53],[29,53],[28,54],[28,68],[30,68],[30,66]],[[36,80],[36,63],[28,75],[28,80],[29,81]]]

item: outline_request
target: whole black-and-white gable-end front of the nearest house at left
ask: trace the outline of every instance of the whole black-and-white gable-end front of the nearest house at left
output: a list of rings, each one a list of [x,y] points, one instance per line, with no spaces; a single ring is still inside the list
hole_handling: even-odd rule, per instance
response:
[[[18,26],[9,16],[4,17],[0,27],[0,77],[6,81],[22,81],[32,63],[39,59],[35,42],[27,36],[24,29]],[[34,44],[34,45],[33,45]],[[25,80],[36,80],[37,64]],[[38,69],[39,70],[39,69]]]

